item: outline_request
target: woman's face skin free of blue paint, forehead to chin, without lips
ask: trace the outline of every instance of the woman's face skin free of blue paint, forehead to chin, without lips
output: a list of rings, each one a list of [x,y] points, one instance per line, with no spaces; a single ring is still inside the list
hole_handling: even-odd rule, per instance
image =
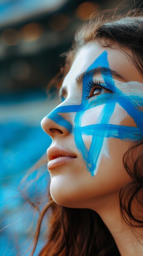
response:
[[[77,84],[76,78],[81,73],[86,72],[105,50],[108,53],[110,69],[122,76],[119,79],[117,77],[114,79],[113,77],[115,87],[123,94],[130,94],[132,100],[133,94],[141,95],[143,93],[143,78],[136,67],[128,61],[125,54],[118,49],[103,48],[95,43],[89,43],[77,53],[75,61],[64,79],[62,96],[65,98],[65,101],[58,107],[71,106],[74,109],[75,105],[81,104],[83,85],[82,83]],[[105,83],[105,79],[103,81],[101,75],[98,75],[96,79],[100,79],[101,83]],[[105,90],[102,92],[103,94],[108,94]],[[95,96],[93,93],[92,97],[88,100],[89,105],[95,103],[95,97],[100,97],[100,95]],[[101,120],[99,121],[99,119],[106,105],[107,103],[105,102],[97,104],[93,108],[88,108],[81,118],[81,128],[101,124]],[[73,112],[69,113],[63,111],[60,115],[66,121],[70,122],[73,128],[75,127],[76,111],[74,112],[73,110]],[[121,106],[121,102],[115,104],[109,124],[137,128],[134,118]],[[51,119],[50,116],[42,120],[42,127],[53,139],[51,146],[63,148],[67,151],[70,150],[70,152],[77,156],[72,162],[66,162],[56,168],[49,169],[51,175],[51,196],[58,204],[66,207],[92,209],[94,201],[95,205],[97,205],[98,212],[98,199],[101,196],[104,197],[109,193],[114,193],[114,191],[121,189],[121,187],[130,181],[130,177],[126,173],[122,163],[124,153],[136,144],[136,142],[130,139],[130,136],[128,140],[121,139],[119,136],[107,136],[103,139],[94,172],[96,175],[92,177],[87,169],[87,163],[83,158],[83,154],[81,154],[80,148],[77,147],[73,132],[69,132],[64,126]],[[100,127],[96,131],[95,142],[99,139],[99,133],[101,136]],[[82,135],[84,145],[88,149],[91,146],[92,137],[92,135]],[[95,148],[94,153],[96,153],[96,150],[97,148]]]

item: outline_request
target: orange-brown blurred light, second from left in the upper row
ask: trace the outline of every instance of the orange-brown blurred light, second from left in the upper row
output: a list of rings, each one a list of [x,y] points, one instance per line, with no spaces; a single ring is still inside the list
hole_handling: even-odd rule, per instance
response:
[[[22,27],[22,38],[26,42],[35,41],[42,37],[43,27],[37,22],[32,22]]]

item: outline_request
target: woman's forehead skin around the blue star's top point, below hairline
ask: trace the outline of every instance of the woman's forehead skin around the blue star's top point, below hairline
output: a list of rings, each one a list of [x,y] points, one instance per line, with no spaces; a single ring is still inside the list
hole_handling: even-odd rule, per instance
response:
[[[108,52],[108,63],[112,70],[118,72],[126,81],[143,82],[141,74],[121,49],[111,49],[110,47],[101,47],[97,43],[87,43],[78,50],[75,60],[68,74],[66,75],[63,86],[75,82],[75,78],[85,72],[88,67],[106,50]],[[128,51],[128,54],[131,54]]]

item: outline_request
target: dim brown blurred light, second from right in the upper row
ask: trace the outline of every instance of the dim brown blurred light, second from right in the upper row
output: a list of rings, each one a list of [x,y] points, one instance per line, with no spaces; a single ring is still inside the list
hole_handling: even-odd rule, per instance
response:
[[[56,13],[49,20],[49,27],[55,31],[62,31],[68,27],[69,17],[62,13]]]

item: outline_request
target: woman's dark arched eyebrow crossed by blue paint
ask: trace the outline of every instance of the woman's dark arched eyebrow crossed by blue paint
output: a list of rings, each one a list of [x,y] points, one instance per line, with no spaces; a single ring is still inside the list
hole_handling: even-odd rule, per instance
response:
[[[113,78],[117,78],[117,79],[122,79],[124,80],[125,82],[127,82],[125,80],[125,78],[123,76],[121,76],[118,72],[108,68],[108,67],[97,67],[95,69],[92,69],[92,70],[88,70],[88,71],[85,71],[84,73],[82,74],[79,74],[76,76],[76,82],[78,85],[80,85],[83,81],[83,78],[84,78],[84,75],[86,75],[86,77],[90,77],[91,75],[92,76],[99,76],[99,75],[112,75]]]

